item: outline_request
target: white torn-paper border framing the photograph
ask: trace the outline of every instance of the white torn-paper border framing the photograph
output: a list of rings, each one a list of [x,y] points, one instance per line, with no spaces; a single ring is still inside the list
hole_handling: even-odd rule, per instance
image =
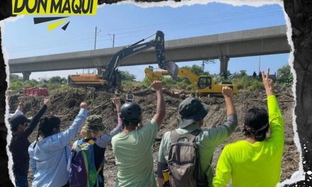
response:
[[[135,1],[121,1],[118,2],[118,4],[135,4],[136,6],[139,6],[141,8],[148,8],[148,7],[152,7],[152,6],[158,6],[158,7],[162,7],[162,6],[171,6],[173,8],[178,8],[180,6],[192,6],[194,4],[208,4],[208,3],[212,3],[212,2],[216,2],[216,3],[223,3],[223,4],[230,4],[233,6],[264,6],[264,5],[272,5],[272,4],[279,4],[282,8],[284,8],[283,5],[283,1],[279,1],[279,0],[273,0],[273,1],[261,1],[261,0],[232,0],[232,1],[204,1],[204,0],[182,0],[180,2],[175,2],[175,1],[161,1],[161,2],[135,2]],[[108,4],[101,4],[98,6],[98,8],[100,8],[101,6],[109,6]],[[17,16],[17,17],[11,17],[11,18],[7,18],[6,20],[0,21],[0,26],[1,26],[1,35],[5,35],[6,33],[4,32],[4,21],[7,22],[12,22],[12,21],[16,21],[18,18],[21,18],[22,16]],[[294,94],[294,101],[295,101],[295,105],[294,108],[296,107],[296,72],[294,70],[294,43],[291,40],[291,23],[289,20],[289,17],[287,16],[286,12],[284,11],[284,18],[286,20],[286,26],[287,26],[287,38],[289,41],[289,45],[291,46],[291,52],[289,54],[289,65],[291,66],[291,73],[294,75],[294,83],[292,86],[292,91]],[[9,66],[8,66],[8,54],[6,52],[6,48],[3,45],[3,40],[1,41],[1,47],[2,47],[2,52],[4,54],[4,62],[6,64],[6,74],[7,74],[7,78],[6,81],[8,82],[8,86],[9,86]],[[9,123],[8,123],[8,116],[7,113],[9,113],[9,103],[6,99],[6,115],[5,115],[5,123],[6,123],[6,128],[8,128],[8,137],[6,138],[7,142],[11,142],[11,130],[9,128]],[[299,151],[300,154],[300,162],[299,162],[299,171],[294,172],[294,174],[291,176],[291,179],[287,179],[286,181],[283,181],[282,183],[279,183],[277,186],[284,186],[285,184],[289,184],[289,183],[295,183],[296,181],[301,181],[304,180],[304,172],[303,172],[303,164],[302,164],[302,150],[301,150],[301,145],[299,142],[299,135],[297,132],[297,125],[296,125],[296,115],[294,113],[294,109],[293,109],[293,130],[294,130],[294,142],[296,144],[296,147]],[[13,171],[11,171],[11,167],[12,167],[12,157],[11,157],[11,152],[9,152],[9,147],[6,146],[6,151],[9,157],[9,176],[11,181],[14,181],[14,176],[13,176]],[[312,171],[310,171],[311,176],[312,176]]]

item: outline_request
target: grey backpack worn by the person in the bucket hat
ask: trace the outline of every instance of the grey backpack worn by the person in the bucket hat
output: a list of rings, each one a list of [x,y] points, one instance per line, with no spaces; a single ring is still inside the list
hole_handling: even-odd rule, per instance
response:
[[[201,130],[194,130],[185,135],[171,131],[168,166],[173,187],[208,186],[206,176],[201,176],[199,149],[194,142]],[[179,142],[182,138],[187,141]]]

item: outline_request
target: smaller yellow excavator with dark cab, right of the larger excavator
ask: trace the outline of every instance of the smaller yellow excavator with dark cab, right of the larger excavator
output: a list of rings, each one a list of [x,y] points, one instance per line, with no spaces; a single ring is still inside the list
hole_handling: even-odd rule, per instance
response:
[[[145,68],[145,74],[151,81],[158,81],[160,77],[164,75],[169,75],[167,70],[160,71],[152,71],[150,68]],[[222,87],[229,86],[233,89],[233,93],[236,94],[238,92],[238,86],[235,84],[231,84],[230,82],[226,82],[223,84],[216,84],[213,81],[213,77],[211,76],[198,76],[194,74],[190,69],[178,69],[177,72],[178,77],[186,77],[191,81],[191,84],[194,85],[196,89],[196,94],[210,94],[210,95],[220,95],[222,94]]]

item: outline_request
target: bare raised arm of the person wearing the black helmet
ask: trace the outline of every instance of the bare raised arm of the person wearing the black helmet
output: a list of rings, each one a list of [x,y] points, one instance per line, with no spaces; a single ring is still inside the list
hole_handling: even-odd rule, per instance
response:
[[[158,128],[160,125],[162,125],[162,120],[165,118],[166,114],[166,104],[165,104],[165,98],[162,94],[162,82],[161,81],[154,81],[152,83],[152,86],[156,90],[156,96],[157,96],[157,107],[156,107],[156,114],[152,118],[156,121]]]

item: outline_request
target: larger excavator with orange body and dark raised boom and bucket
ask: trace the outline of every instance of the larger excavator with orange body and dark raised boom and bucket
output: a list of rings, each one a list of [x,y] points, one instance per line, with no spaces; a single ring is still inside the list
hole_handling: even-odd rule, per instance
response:
[[[149,38],[149,37],[147,37]],[[146,39],[146,38],[145,38]],[[165,61],[165,45],[164,45],[164,33],[158,30],[154,40],[150,42],[143,42],[142,39],[135,42],[132,45],[124,47],[122,50],[118,51],[113,55],[111,61],[106,67],[101,67],[101,71],[98,74],[72,74],[68,76],[68,84],[72,86],[91,86],[96,89],[110,89],[110,88],[120,88],[121,87],[121,75],[118,72],[118,67],[121,61],[130,55],[147,50],[150,47],[155,47],[156,58],[158,66],[161,69],[166,69],[169,71],[174,79],[177,78],[177,64],[174,62]]]

